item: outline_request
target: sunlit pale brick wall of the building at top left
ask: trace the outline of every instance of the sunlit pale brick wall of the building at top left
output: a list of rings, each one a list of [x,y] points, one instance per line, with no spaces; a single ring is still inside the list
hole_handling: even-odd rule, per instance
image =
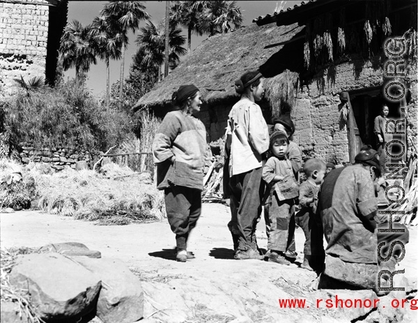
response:
[[[24,80],[45,76],[48,3],[45,0],[19,2],[0,1],[0,93],[3,95],[13,93],[13,79],[20,79],[21,75]]]

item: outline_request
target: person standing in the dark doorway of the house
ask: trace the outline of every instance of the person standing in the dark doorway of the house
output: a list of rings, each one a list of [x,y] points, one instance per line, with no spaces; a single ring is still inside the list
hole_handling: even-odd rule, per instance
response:
[[[380,160],[380,169],[385,174],[389,171],[387,164],[390,162],[389,156],[387,156],[386,144],[393,139],[394,123],[389,122],[387,115],[389,114],[389,107],[382,105],[380,110],[380,116],[374,120],[374,133],[378,142],[378,153]]]

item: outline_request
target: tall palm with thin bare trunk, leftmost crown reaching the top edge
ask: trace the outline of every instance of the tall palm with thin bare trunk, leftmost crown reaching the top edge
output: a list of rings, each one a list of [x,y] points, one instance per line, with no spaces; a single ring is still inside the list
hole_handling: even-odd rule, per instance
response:
[[[123,32],[132,30],[133,33],[139,28],[141,20],[150,19],[150,15],[145,11],[144,3],[141,1],[110,1],[104,5],[100,15],[111,17],[120,24]],[[128,38],[122,47],[122,63],[121,63],[121,87],[119,89],[119,99],[123,96],[123,72],[125,69],[125,49],[128,45]]]

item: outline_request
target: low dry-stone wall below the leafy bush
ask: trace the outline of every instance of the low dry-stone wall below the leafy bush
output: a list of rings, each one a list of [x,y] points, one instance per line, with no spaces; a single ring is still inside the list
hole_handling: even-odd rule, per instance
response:
[[[63,146],[36,148],[31,142],[21,142],[20,146],[20,158],[24,164],[30,161],[49,163],[55,170],[63,170],[65,167],[75,168],[78,161],[91,164],[92,160],[91,154],[85,149]]]

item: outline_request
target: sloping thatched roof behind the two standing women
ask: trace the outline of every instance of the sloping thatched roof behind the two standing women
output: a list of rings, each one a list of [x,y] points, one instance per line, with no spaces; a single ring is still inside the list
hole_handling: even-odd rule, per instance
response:
[[[245,70],[261,69],[265,76],[274,76],[288,68],[285,62],[266,65],[266,62],[284,45],[264,49],[265,46],[286,43],[297,36],[303,27],[297,24],[280,27],[258,27],[252,24],[224,35],[218,34],[204,40],[171,74],[155,89],[139,99],[134,110],[148,107],[163,116],[171,109],[171,95],[181,84],[195,84],[203,93],[203,107],[199,116],[208,128],[211,140],[224,135],[226,117],[239,96],[234,83]],[[300,55],[302,59],[302,54]],[[292,75],[295,76],[295,75]],[[295,80],[292,80],[295,82]],[[277,83],[267,82],[266,91],[272,98],[277,93]],[[265,107],[269,101],[263,103]],[[265,109],[266,117],[270,114]],[[216,124],[212,124],[216,123]]]

